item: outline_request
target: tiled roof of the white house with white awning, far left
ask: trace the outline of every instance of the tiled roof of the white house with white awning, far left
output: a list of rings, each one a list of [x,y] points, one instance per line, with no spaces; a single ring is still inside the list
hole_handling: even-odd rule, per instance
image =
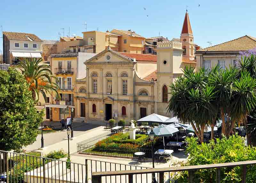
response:
[[[23,32],[3,31],[3,35],[5,35],[9,40],[15,40],[15,41],[31,41],[30,39],[32,39],[33,41],[42,41],[35,34],[29,34],[29,33],[23,33]]]

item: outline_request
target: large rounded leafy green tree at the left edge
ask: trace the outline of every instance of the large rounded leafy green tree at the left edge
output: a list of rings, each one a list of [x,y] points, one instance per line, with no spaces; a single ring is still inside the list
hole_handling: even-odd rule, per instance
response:
[[[36,140],[44,111],[34,107],[29,84],[17,70],[0,70],[0,149],[17,150]]]

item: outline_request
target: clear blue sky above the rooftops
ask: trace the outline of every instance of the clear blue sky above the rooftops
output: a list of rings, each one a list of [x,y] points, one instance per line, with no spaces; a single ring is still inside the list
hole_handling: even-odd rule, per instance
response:
[[[160,32],[172,39],[180,37],[186,5],[194,42],[202,47],[207,41],[215,45],[244,35],[256,37],[255,0],[1,0],[0,26],[3,31],[57,40],[58,32],[63,35],[61,28],[65,36],[69,27],[70,35],[82,36],[87,22],[87,31],[132,29],[144,37]]]

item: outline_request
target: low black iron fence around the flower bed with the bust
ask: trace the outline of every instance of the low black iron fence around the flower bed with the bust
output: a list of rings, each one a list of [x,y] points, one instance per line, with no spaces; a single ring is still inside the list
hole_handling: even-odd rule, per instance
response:
[[[145,155],[144,155],[145,158],[151,158],[152,152],[151,152],[150,148],[149,149],[145,149],[145,148],[122,149],[122,148],[107,148],[107,147],[102,148],[102,147],[95,146],[96,143],[100,142],[101,140],[107,139],[108,137],[114,135],[117,132],[127,133],[128,131],[129,131],[128,129],[121,129],[121,130],[114,131],[114,132],[107,131],[106,133],[92,137],[91,139],[87,139],[87,140],[78,142],[77,143],[77,153],[87,154],[87,155],[101,155],[101,156],[132,158],[132,157],[134,157],[135,152],[143,152],[143,153],[145,153]]]

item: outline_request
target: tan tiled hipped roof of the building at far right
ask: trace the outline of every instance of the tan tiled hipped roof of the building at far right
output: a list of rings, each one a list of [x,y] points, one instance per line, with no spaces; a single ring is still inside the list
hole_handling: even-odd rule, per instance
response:
[[[231,41],[197,50],[196,52],[238,52],[247,51],[256,47],[256,38],[243,36]]]

